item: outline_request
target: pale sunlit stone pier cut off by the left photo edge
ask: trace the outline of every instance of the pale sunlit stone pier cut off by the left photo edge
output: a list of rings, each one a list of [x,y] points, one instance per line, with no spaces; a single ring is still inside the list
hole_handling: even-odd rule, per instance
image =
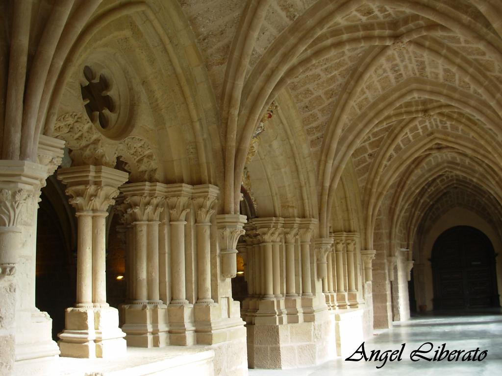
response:
[[[47,175],[44,165],[0,160],[0,374],[11,374],[20,355],[27,359],[57,354],[50,319],[41,328],[33,322],[42,314],[35,307],[35,249],[28,238],[36,226],[37,199]],[[31,356],[18,351],[27,340],[41,344]]]

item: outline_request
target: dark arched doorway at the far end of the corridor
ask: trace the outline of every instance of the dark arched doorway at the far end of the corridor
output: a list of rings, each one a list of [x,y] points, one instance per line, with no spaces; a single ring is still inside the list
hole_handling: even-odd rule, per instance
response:
[[[495,253],[486,235],[470,226],[443,232],[432,248],[434,309],[499,306]]]

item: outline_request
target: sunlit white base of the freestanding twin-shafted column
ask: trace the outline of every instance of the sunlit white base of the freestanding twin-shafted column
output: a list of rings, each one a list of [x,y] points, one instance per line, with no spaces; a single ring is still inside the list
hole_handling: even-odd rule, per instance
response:
[[[66,328],[58,334],[61,356],[112,358],[126,354],[126,335],[112,307],[66,309]]]

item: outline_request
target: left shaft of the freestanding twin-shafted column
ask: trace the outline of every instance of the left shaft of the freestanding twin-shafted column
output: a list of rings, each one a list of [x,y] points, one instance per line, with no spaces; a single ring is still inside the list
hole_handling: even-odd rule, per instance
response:
[[[77,213],[77,306],[92,304],[92,216]]]

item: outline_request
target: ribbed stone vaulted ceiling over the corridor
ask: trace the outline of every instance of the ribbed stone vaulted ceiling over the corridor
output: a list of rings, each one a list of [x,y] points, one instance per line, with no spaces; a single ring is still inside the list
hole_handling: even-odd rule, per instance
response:
[[[181,5],[223,119],[239,114],[237,140],[249,124],[253,128],[254,111],[262,112],[281,91],[291,94],[315,161],[326,229],[325,208],[349,161],[368,246],[383,215],[390,215],[403,241],[412,241],[423,218],[452,206],[500,217],[499,2]],[[237,90],[228,82],[232,69],[241,74]],[[230,103],[229,95],[237,101]]]

